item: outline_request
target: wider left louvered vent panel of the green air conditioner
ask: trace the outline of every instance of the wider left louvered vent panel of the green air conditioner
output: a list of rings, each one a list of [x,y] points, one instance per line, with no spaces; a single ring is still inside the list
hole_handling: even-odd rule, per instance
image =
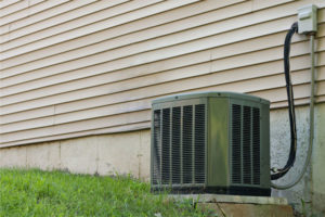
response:
[[[154,111],[153,183],[205,183],[206,105]]]

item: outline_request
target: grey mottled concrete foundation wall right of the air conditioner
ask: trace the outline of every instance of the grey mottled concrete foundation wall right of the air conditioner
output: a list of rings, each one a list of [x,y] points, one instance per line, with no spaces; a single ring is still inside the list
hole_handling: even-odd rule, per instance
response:
[[[272,111],[271,115],[271,166],[283,167],[286,164],[289,145],[289,119],[286,108]],[[277,181],[289,183],[302,170],[309,145],[309,106],[296,107],[298,148],[295,166]],[[307,173],[295,187],[288,190],[272,190],[273,196],[288,199],[296,210],[308,214],[325,215],[325,103],[315,106],[315,133],[312,161]]]

